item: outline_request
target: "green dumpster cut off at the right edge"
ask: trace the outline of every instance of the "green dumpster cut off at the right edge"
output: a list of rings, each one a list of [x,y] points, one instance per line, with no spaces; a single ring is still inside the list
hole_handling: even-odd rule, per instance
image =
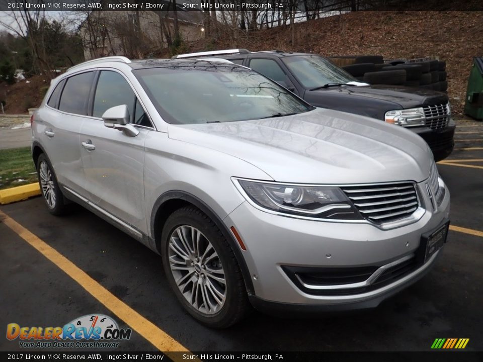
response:
[[[464,114],[483,120],[483,57],[473,59],[466,88]]]

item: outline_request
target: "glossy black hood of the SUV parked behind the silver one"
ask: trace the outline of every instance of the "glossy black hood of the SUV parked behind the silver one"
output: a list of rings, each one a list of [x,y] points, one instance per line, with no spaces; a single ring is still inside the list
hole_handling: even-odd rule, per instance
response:
[[[398,108],[414,108],[448,102],[448,96],[444,93],[435,92],[432,89],[398,85],[329,87],[308,93],[318,93],[323,97],[323,93],[332,92],[338,92],[339,95],[346,95],[347,97],[385,101],[399,106]]]

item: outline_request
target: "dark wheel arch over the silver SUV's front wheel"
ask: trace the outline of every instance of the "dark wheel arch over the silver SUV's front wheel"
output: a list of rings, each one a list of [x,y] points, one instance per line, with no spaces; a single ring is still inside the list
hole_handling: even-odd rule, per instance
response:
[[[161,234],[163,232],[163,227],[166,223],[168,217],[176,210],[184,207],[193,205],[205,213],[220,229],[223,236],[226,238],[230,244],[233,253],[235,254],[236,261],[240,266],[241,273],[243,274],[245,287],[250,295],[255,295],[255,290],[252,283],[252,278],[250,271],[248,269],[245,258],[241,254],[241,250],[238,247],[238,243],[235,240],[233,234],[228,230],[223,221],[218,217],[218,215],[208,206],[205,202],[200,200],[198,197],[181,190],[168,191],[161,195],[153,205],[150,219],[150,233],[154,241],[154,245],[159,254],[162,253],[161,250]]]

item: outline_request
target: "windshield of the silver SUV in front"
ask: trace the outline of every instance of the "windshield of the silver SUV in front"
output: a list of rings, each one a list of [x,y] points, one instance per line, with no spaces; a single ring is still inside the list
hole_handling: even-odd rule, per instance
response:
[[[244,121],[313,109],[277,83],[243,67],[190,65],[133,72],[169,123]]]

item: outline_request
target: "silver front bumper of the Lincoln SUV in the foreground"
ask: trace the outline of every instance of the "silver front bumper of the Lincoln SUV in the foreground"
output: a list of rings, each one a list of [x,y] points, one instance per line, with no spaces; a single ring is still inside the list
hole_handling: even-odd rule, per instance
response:
[[[420,187],[424,183],[419,184]],[[446,186],[445,186],[446,188]],[[422,194],[423,203],[431,205]],[[449,192],[437,210],[426,210],[418,221],[391,230],[370,223],[302,220],[273,215],[244,202],[224,220],[234,226],[247,250],[243,250],[255,296],[255,307],[270,310],[346,310],[371,308],[420,279],[441,254],[441,249],[424,264],[418,264],[398,279],[380,288],[312,292],[294,282],[287,268],[353,270],[379,268],[416,257],[426,234],[449,217]],[[340,287],[340,286],[339,286]],[[342,287],[344,288],[344,287]],[[273,309],[272,309],[273,308]]]

